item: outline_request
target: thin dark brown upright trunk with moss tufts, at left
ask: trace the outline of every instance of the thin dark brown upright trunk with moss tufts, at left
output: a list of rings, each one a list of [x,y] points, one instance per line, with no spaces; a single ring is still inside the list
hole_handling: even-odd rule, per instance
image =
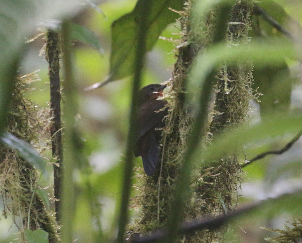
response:
[[[56,209],[56,220],[60,221],[60,205],[61,205],[61,177],[62,177],[62,134],[61,134],[61,93],[60,93],[60,47],[59,47],[59,34],[52,30],[47,31],[47,61],[49,63],[48,76],[50,80],[50,112],[52,117],[51,133],[51,146],[52,155],[57,158],[57,164],[53,165],[53,187]]]

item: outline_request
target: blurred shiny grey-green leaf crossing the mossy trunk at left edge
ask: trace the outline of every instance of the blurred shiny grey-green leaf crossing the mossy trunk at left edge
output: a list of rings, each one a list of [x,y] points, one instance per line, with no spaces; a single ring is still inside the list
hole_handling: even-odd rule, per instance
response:
[[[0,139],[6,146],[18,150],[23,159],[40,169],[42,173],[46,171],[46,162],[30,144],[7,132],[3,133]]]

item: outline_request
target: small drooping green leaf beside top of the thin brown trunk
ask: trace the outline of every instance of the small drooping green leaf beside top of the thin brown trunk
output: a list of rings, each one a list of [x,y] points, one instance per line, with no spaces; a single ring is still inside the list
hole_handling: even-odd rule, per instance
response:
[[[99,53],[104,52],[98,37],[87,27],[77,23],[71,23],[70,28],[70,34],[73,40],[78,40],[84,44],[87,44],[88,46],[96,49]]]

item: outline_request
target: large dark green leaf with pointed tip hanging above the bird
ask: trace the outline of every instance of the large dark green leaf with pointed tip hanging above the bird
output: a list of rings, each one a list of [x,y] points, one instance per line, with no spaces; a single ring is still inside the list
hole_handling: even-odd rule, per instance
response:
[[[139,11],[143,11],[145,0],[138,0],[135,8],[112,24],[112,52],[110,60],[109,81],[131,75],[134,70],[135,46],[137,45],[137,29]],[[150,51],[162,30],[167,24],[179,18],[179,15],[168,8],[181,10],[182,0],[153,0],[150,11],[145,16],[147,19],[146,50]]]

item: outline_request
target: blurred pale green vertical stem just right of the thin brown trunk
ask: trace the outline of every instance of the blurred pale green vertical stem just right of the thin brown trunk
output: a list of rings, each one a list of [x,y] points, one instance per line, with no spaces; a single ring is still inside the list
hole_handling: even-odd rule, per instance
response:
[[[74,186],[73,186],[73,162],[76,161],[76,149],[74,147],[74,117],[76,115],[75,82],[72,74],[71,45],[70,45],[70,23],[64,21],[62,24],[63,62],[65,71],[64,94],[66,102],[64,105],[64,117],[66,121],[65,133],[65,159],[62,181],[62,242],[72,242],[72,226],[74,215]]]

